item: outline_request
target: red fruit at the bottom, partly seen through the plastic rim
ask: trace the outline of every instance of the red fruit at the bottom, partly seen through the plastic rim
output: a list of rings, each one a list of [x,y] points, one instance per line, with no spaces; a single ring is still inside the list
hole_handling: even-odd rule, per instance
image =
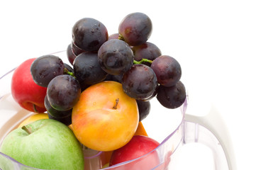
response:
[[[135,135],[130,140],[130,142],[128,142],[128,144],[113,151],[109,165],[112,166],[121,162],[126,162],[147,154],[143,158],[126,164],[126,166],[123,167],[123,170],[153,169],[160,163],[157,152],[152,152],[152,150],[155,149],[158,145],[160,144],[150,137]]]

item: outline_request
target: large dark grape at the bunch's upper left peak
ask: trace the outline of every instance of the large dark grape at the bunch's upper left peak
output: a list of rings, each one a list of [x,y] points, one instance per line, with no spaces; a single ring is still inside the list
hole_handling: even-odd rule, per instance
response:
[[[85,51],[97,51],[108,40],[108,30],[94,18],[82,18],[72,28],[72,40]]]

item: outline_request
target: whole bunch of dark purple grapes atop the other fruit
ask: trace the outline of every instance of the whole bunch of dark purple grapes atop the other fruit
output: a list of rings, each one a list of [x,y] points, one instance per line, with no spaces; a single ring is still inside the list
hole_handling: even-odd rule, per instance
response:
[[[150,99],[156,97],[166,108],[182,106],[186,90],[180,78],[182,69],[157,45],[148,42],[152,21],[145,13],[130,13],[108,35],[103,23],[82,18],[72,27],[63,63],[55,55],[38,57],[30,67],[36,84],[48,88],[45,108],[50,118],[71,124],[72,107],[87,87],[101,81],[118,81],[123,91],[138,103],[140,120],[150,112]]]

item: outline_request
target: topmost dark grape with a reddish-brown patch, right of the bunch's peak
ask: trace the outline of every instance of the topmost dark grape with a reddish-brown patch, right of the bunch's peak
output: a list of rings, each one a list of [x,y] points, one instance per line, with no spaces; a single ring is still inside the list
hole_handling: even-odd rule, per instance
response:
[[[150,38],[152,22],[145,13],[130,13],[119,24],[118,33],[129,45],[142,45]]]

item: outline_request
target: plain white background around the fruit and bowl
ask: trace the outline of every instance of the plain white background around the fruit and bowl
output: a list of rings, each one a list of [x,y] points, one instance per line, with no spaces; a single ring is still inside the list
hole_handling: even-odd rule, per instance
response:
[[[238,169],[255,169],[255,8],[253,0],[1,1],[0,76],[30,57],[66,50],[80,18],[96,18],[112,34],[128,13],[146,13],[153,23],[149,41],[182,65],[198,113],[213,103]]]

